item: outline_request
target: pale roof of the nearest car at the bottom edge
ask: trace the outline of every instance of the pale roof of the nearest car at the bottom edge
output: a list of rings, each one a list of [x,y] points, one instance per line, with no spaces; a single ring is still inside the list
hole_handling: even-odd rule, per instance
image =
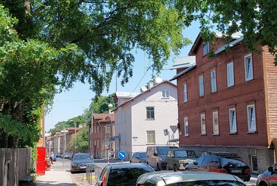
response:
[[[240,178],[231,174],[209,171],[154,171],[139,176],[137,183],[145,183],[146,180],[162,180],[165,185],[170,183],[194,180],[233,180],[244,183]],[[245,183],[244,183],[245,184]]]

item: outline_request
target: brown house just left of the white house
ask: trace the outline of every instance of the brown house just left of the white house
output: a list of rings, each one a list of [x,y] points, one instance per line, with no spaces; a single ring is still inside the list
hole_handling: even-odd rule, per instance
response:
[[[89,151],[94,158],[108,159],[114,149],[114,113],[92,113],[89,124]]]

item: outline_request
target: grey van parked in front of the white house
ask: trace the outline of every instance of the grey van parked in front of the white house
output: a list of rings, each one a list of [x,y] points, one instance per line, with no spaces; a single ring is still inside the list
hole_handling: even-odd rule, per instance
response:
[[[149,146],[146,149],[146,163],[153,169],[166,169],[166,153],[169,149],[179,149],[175,146]]]

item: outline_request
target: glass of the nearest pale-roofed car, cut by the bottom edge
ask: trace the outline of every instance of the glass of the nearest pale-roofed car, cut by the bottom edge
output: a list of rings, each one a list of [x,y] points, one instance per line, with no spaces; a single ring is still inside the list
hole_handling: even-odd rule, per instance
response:
[[[181,183],[170,183],[166,186],[246,186],[244,183],[233,180],[196,180]]]

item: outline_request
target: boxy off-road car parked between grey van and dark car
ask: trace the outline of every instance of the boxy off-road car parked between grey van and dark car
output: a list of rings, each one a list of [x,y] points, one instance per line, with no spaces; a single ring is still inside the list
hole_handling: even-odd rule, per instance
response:
[[[185,170],[185,166],[197,160],[195,151],[186,149],[170,149],[166,154],[167,170]]]

